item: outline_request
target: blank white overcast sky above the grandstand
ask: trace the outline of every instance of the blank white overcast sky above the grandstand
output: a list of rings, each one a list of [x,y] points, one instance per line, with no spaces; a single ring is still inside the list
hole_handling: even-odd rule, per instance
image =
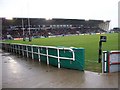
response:
[[[0,0],[0,17],[110,20],[118,27],[119,0]]]

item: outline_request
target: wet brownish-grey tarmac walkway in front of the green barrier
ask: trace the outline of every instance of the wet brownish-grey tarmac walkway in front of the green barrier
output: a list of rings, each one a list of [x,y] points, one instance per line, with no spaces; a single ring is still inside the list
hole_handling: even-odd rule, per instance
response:
[[[7,52],[0,54],[2,88],[118,88],[118,73],[58,69]]]

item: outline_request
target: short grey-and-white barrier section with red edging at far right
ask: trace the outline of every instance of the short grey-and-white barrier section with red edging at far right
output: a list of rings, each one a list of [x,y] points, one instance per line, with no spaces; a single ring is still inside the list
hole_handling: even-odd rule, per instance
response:
[[[120,71],[120,51],[103,51],[102,72],[111,73]]]

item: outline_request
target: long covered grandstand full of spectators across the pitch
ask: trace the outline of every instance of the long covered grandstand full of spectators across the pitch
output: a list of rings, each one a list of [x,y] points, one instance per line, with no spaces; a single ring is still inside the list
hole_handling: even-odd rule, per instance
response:
[[[22,20],[24,21],[22,25]],[[84,20],[84,19],[62,19],[52,18],[13,18],[7,20],[2,18],[2,38],[7,36],[13,38],[29,37],[49,37],[56,35],[73,35],[73,34],[94,34],[107,32],[110,21],[103,20]],[[24,31],[24,34],[23,34]]]

